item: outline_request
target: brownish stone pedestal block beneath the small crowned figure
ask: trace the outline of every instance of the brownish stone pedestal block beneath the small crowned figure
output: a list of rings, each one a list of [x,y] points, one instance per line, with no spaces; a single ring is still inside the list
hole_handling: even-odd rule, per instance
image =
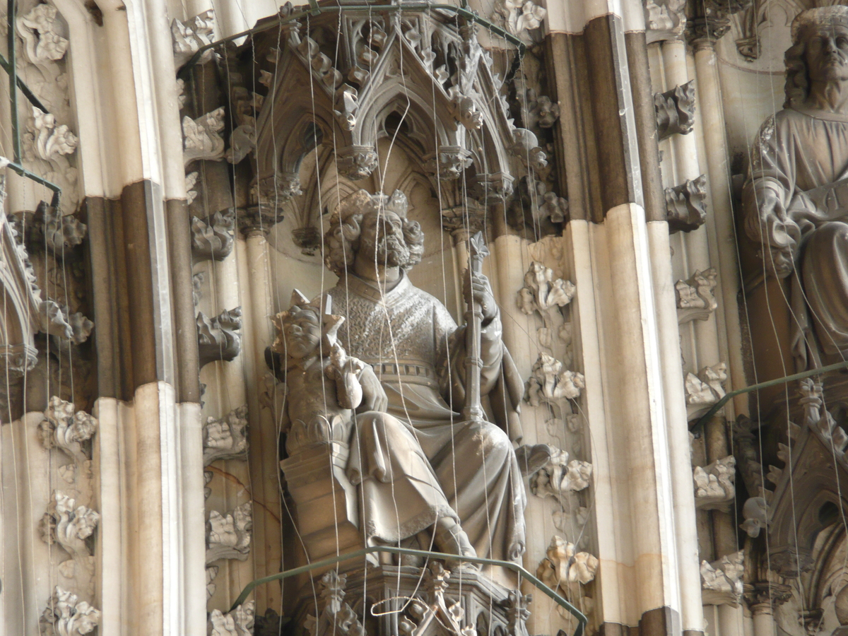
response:
[[[365,547],[356,487],[343,442],[308,444],[280,462],[295,505],[295,522],[310,561]]]

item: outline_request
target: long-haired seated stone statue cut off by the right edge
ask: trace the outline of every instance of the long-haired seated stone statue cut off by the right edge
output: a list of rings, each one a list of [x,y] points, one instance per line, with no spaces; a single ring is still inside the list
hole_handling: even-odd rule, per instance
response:
[[[784,109],[763,123],[743,189],[765,270],[790,279],[799,371],[848,353],[848,7],[803,11]]]

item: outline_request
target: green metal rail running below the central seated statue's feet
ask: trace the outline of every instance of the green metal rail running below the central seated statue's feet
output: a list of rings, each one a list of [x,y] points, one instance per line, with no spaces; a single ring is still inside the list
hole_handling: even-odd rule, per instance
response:
[[[567,600],[563,599],[559,594],[552,589],[550,589],[547,585],[538,580],[537,577],[534,577],[533,574],[527,572],[522,566],[519,566],[517,563],[512,563],[511,561],[497,561],[495,559],[483,559],[479,556],[459,556],[459,555],[448,555],[444,552],[430,552],[428,550],[413,550],[411,548],[395,548],[393,546],[388,545],[375,545],[370,548],[363,548],[362,550],[354,550],[354,552],[348,552],[343,555],[331,556],[327,559],[322,559],[321,561],[315,561],[315,563],[310,563],[306,566],[293,567],[291,570],[286,570],[285,572],[279,572],[278,574],[271,574],[270,577],[257,578],[255,581],[251,581],[247,585],[244,586],[242,590],[242,594],[238,595],[238,598],[232,604],[232,608],[230,611],[235,610],[238,605],[242,605],[245,600],[247,600],[248,595],[254,591],[259,585],[264,585],[265,583],[271,583],[272,581],[282,581],[284,578],[295,577],[298,574],[305,574],[306,572],[311,572],[319,567],[332,566],[340,561],[349,561],[350,559],[356,559],[360,556],[371,555],[375,552],[385,552],[392,555],[410,555],[410,556],[420,556],[425,559],[447,559],[451,561],[464,561],[466,563],[477,563],[478,565],[483,566],[500,566],[504,567],[507,570],[511,570],[512,572],[516,572],[519,576],[524,577],[530,583],[539,589],[546,596],[550,596],[552,600],[555,601],[557,605],[560,605],[563,609],[568,611],[572,616],[577,619],[577,628],[574,629],[574,633],[572,636],[583,636],[583,633],[586,631],[586,623],[589,622],[589,619],[583,614],[583,612],[579,611],[577,607],[569,603]]]

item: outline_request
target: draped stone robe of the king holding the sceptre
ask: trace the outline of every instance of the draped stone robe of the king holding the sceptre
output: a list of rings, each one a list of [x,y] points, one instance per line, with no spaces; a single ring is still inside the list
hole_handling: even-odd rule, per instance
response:
[[[360,483],[366,538],[410,537],[445,514],[446,499],[477,555],[515,560],[527,499],[510,437],[492,423],[462,421],[449,406],[465,395],[464,327],[405,274],[385,297],[353,274],[327,293],[346,318],[344,348],[373,366],[388,396],[390,416],[358,415],[351,441],[348,472]],[[520,438],[523,388],[500,336],[498,319],[483,329],[481,384]]]

